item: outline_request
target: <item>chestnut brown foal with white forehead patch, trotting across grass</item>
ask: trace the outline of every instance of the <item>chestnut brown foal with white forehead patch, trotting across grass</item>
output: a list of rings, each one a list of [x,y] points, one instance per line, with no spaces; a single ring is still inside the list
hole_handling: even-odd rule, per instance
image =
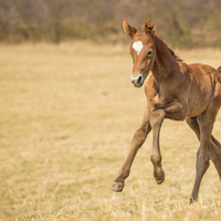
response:
[[[150,160],[154,177],[158,185],[165,180],[161,166],[159,134],[165,118],[185,120],[196,133],[200,147],[197,152],[196,180],[190,203],[198,200],[201,179],[211,159],[221,179],[221,145],[211,135],[213,124],[221,105],[221,69],[206,64],[186,64],[167,44],[155,34],[155,25],[147,21],[138,29],[124,21],[124,31],[131,38],[130,54],[134,61],[131,83],[140,87],[145,84],[147,107],[141,126],[131,140],[128,157],[119,176],[113,185],[113,191],[124,188],[135,156],[152,130],[152,150]]]

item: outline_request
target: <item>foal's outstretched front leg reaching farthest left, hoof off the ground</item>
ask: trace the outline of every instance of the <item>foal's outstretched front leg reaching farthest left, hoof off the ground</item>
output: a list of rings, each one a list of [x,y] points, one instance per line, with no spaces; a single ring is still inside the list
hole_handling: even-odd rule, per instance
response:
[[[129,150],[129,154],[127,156],[127,159],[125,164],[123,165],[122,169],[119,170],[119,176],[116,178],[116,180],[113,183],[112,190],[114,192],[120,192],[124,188],[124,180],[129,176],[131,164],[135,159],[135,156],[138,151],[138,149],[144,144],[147,135],[151,130],[150,124],[149,124],[149,116],[150,110],[149,106],[147,106],[143,119],[141,126],[137,129],[137,131],[134,134],[133,140],[131,140],[131,147]]]

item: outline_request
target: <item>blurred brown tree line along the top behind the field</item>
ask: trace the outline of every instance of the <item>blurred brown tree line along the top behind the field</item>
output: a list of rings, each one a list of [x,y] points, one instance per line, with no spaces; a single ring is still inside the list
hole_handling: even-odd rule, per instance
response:
[[[127,41],[149,17],[178,48],[221,46],[221,0],[0,0],[0,42]]]

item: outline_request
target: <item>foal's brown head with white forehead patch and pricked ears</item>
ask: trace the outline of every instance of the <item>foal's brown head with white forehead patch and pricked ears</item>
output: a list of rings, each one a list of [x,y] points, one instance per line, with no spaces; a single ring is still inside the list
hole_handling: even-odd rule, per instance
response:
[[[125,33],[133,40],[130,45],[130,54],[134,61],[131,83],[134,86],[140,87],[152,69],[156,57],[154,44],[155,25],[147,18],[146,23],[143,27],[138,27],[138,29],[130,27],[127,21],[124,21],[123,27]]]

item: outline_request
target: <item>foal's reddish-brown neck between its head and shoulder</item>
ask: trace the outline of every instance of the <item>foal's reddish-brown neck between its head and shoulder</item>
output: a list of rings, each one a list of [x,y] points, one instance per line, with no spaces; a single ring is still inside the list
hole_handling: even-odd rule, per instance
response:
[[[177,60],[167,44],[155,35],[156,59],[151,70],[155,83],[159,85],[176,67]]]

